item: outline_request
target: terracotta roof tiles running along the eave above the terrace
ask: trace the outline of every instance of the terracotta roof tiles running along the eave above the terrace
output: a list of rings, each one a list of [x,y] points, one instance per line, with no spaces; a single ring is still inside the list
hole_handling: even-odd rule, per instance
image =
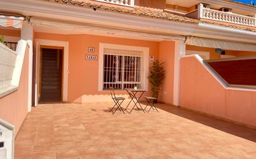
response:
[[[216,20],[191,19],[188,17],[183,17],[181,15],[175,15],[175,14],[171,14],[169,12],[164,12],[163,9],[153,9],[150,7],[141,7],[141,6],[124,7],[124,6],[118,6],[118,5],[113,5],[113,4],[107,4],[104,2],[96,2],[96,1],[88,1],[88,0],[79,0],[79,1],[76,1],[76,0],[41,0],[41,1],[49,1],[49,2],[59,3],[59,4],[70,4],[70,5],[74,5],[74,6],[81,6],[81,7],[91,8],[91,9],[95,8],[95,9],[99,9],[102,11],[111,11],[111,12],[118,12],[121,14],[138,15],[138,16],[142,16],[142,17],[170,20],[170,21],[183,22],[183,23],[195,24],[195,25],[199,24],[199,22],[203,22],[206,24],[219,25],[221,27],[229,27],[229,28],[235,28],[235,29],[239,29],[239,30],[247,30],[250,32],[256,32],[256,27],[249,27],[249,26],[239,25],[239,24],[230,24],[227,22],[219,22]],[[231,0],[224,0],[224,1],[231,1]]]

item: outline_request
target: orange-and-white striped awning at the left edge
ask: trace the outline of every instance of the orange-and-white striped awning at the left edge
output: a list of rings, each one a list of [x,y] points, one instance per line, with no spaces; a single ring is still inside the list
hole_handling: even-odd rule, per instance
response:
[[[0,15],[0,25],[2,27],[21,28],[24,17],[16,17],[12,15]]]

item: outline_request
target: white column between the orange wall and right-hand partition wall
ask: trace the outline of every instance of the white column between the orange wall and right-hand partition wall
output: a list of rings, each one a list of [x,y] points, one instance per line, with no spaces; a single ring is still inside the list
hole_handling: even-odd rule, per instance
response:
[[[180,58],[186,54],[186,44],[175,42],[173,105],[180,105]]]

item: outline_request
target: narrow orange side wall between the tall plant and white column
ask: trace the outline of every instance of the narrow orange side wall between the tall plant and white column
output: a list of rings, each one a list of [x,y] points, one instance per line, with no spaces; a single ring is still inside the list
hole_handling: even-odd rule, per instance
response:
[[[174,41],[162,41],[159,43],[159,61],[165,62],[165,80],[159,100],[168,104],[173,104],[174,53]]]

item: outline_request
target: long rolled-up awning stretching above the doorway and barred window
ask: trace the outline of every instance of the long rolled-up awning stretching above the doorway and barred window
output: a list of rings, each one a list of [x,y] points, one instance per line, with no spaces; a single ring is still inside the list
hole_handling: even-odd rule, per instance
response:
[[[63,30],[66,32],[74,33],[89,33],[96,35],[109,35],[109,36],[127,36],[127,37],[139,37],[146,40],[171,40],[171,41],[184,41],[184,36],[179,35],[165,35],[158,33],[150,33],[150,32],[139,32],[133,30],[126,30],[122,28],[111,28],[111,27],[103,27],[103,26],[94,26],[83,23],[72,23],[63,20],[50,20],[50,19],[40,19],[37,17],[32,17],[30,19],[30,23],[36,25],[38,27],[47,27],[53,30]]]

